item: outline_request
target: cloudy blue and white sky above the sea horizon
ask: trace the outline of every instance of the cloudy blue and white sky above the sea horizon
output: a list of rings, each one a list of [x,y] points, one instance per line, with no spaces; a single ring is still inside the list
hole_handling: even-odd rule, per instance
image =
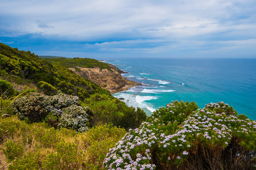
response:
[[[256,58],[256,0],[0,0],[0,42],[62,57]]]

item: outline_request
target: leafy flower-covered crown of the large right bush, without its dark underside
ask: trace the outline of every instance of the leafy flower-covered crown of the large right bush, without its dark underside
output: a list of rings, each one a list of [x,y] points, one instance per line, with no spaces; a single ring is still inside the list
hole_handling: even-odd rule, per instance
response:
[[[243,136],[240,144],[246,147],[252,142],[250,136],[255,134],[255,127],[255,121],[237,116],[223,102],[210,103],[199,110],[195,102],[171,102],[152,113],[139,128],[130,129],[110,149],[104,166],[114,170],[149,170],[156,167],[153,162],[166,167],[181,165],[199,143],[224,149],[232,137]]]

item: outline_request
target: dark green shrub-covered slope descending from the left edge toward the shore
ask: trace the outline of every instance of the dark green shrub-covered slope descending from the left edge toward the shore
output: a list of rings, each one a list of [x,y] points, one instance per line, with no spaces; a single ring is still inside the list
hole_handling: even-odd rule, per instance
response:
[[[93,61],[93,59],[89,60]],[[98,61],[90,63],[94,62]],[[6,74],[7,77],[17,77],[15,78],[17,82],[18,79],[25,82],[30,80],[32,83],[38,84],[46,94],[53,95],[60,90],[62,93],[76,95],[81,100],[94,93],[110,95],[99,85],[76,75],[63,66],[52,65],[38,58],[37,55],[31,54],[30,51],[18,51],[3,43],[0,43],[0,73]]]

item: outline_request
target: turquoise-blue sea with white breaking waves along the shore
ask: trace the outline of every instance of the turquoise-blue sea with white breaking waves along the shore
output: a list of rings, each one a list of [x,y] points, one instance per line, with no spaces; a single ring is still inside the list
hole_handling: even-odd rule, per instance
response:
[[[115,93],[147,115],[175,100],[225,102],[256,120],[256,59],[123,59],[108,62],[142,85]]]

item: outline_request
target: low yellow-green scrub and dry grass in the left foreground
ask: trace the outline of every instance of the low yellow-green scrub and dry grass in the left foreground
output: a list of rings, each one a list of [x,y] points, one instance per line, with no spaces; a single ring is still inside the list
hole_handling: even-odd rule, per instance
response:
[[[105,154],[124,134],[124,129],[109,125],[76,133],[44,123],[27,124],[15,116],[0,119],[0,148],[10,170],[104,169]]]

